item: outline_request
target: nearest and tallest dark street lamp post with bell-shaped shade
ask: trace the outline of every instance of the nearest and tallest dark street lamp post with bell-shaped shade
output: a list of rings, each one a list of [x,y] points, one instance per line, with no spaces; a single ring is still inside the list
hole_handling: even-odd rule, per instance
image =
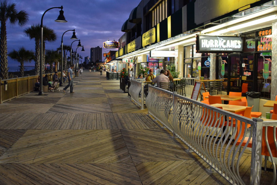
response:
[[[43,86],[42,86],[42,73],[43,73],[43,70],[42,70],[42,60],[43,60],[43,24],[42,24],[42,20],[43,20],[43,16],[44,14],[48,11],[48,10],[51,10],[51,9],[54,9],[54,8],[59,8],[61,9],[60,10],[60,15],[58,16],[58,18],[55,20],[56,22],[67,22],[67,20],[65,20],[65,16],[63,16],[63,6],[61,7],[52,7],[52,8],[49,8],[47,9],[43,14],[42,14],[42,17],[41,17],[41,23],[40,23],[40,28],[41,28],[41,36],[40,36],[40,88],[39,88],[39,95],[44,95],[43,93]]]

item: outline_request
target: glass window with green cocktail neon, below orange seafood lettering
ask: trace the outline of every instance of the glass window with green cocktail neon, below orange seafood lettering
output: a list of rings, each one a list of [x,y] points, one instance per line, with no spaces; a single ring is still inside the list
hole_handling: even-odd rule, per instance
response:
[[[270,99],[271,92],[271,52],[264,52],[257,56],[258,80],[257,90],[261,97]]]

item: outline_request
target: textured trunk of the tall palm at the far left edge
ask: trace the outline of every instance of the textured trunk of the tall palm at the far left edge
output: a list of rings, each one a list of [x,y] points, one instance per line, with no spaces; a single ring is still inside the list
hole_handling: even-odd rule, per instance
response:
[[[7,58],[7,31],[6,31],[6,21],[1,20],[0,28],[0,64],[1,64],[1,77],[3,79],[8,79],[8,58]]]

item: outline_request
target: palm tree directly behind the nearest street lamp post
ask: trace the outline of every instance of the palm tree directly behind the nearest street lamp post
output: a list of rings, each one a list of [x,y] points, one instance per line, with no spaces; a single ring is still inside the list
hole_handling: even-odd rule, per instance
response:
[[[34,24],[31,27],[24,30],[24,33],[30,38],[35,39],[35,73],[39,74],[40,67],[40,37],[41,37],[41,28],[39,24]],[[46,26],[43,26],[43,38],[48,38],[47,34],[50,34],[50,38],[53,38],[53,34],[55,34],[53,29],[50,29]],[[56,38],[55,38],[56,37]],[[54,36],[55,40],[57,39],[57,35]],[[50,41],[52,41],[50,39]],[[44,52],[45,53],[45,52]]]

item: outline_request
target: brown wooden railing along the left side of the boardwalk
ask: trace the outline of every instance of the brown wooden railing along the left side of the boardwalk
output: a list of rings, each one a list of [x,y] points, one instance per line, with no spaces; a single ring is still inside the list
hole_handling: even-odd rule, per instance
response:
[[[54,73],[47,73],[48,80],[52,78]],[[58,76],[61,75],[61,72],[58,72]],[[0,87],[0,104],[3,102],[9,101],[16,97],[19,97],[23,94],[27,94],[32,92],[35,87],[35,83],[37,82],[38,75],[34,76],[24,76],[19,78],[10,78],[10,79],[1,79],[0,83],[2,84],[4,81],[7,81],[7,90],[5,90],[5,86],[1,85]]]

